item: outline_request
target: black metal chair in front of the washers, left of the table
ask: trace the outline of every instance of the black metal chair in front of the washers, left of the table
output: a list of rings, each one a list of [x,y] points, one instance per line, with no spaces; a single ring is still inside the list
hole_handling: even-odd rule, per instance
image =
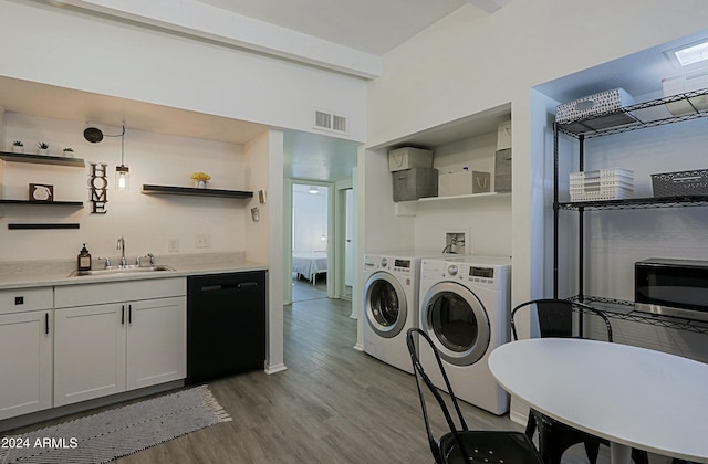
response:
[[[472,431],[469,430],[462,411],[452,387],[448,380],[445,367],[440,360],[440,355],[436,349],[430,337],[419,328],[410,328],[406,333],[406,342],[413,370],[418,388],[418,397],[420,398],[420,408],[423,409],[423,420],[425,422],[426,433],[433,457],[437,464],[457,464],[457,463],[514,463],[514,464],[543,464],[541,455],[533,445],[533,442],[521,432],[512,431]],[[447,407],[447,402],[442,398],[442,393],[435,387],[428,375],[425,372],[423,365],[418,358],[419,349],[429,349],[435,355],[438,369],[442,375],[447,391],[449,392],[449,401],[457,413],[459,425],[455,424],[452,415]],[[445,421],[447,422],[447,432],[439,439],[433,435],[430,420],[428,418],[428,409],[426,405],[426,394],[424,387],[435,397]],[[428,396],[429,397],[429,396]]]

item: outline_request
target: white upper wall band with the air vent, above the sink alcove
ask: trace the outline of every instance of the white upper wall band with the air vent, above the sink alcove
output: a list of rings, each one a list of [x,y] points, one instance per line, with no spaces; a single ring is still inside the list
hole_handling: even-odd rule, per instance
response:
[[[365,139],[362,78],[43,2],[0,9],[0,75],[304,131],[323,109]]]

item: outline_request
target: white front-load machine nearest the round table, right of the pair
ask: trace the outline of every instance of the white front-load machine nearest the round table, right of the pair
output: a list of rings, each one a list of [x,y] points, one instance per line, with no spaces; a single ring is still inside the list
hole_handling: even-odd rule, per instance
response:
[[[511,265],[507,257],[423,260],[420,329],[440,352],[457,398],[500,415],[509,394],[487,365],[489,354],[509,341]],[[430,380],[445,389],[430,350],[420,349]]]

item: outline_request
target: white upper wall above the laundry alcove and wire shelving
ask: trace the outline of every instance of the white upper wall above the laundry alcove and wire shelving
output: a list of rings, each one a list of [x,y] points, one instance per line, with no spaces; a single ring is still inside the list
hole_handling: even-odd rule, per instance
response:
[[[483,18],[461,8],[384,56],[369,85],[367,144],[516,103],[534,85],[704,30],[704,7],[516,0]]]

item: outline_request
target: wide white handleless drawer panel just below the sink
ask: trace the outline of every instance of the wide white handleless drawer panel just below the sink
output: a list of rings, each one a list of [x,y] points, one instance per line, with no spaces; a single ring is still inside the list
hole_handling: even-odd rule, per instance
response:
[[[184,296],[186,294],[186,277],[65,285],[58,286],[54,289],[54,307],[69,308],[102,305],[136,299]]]

